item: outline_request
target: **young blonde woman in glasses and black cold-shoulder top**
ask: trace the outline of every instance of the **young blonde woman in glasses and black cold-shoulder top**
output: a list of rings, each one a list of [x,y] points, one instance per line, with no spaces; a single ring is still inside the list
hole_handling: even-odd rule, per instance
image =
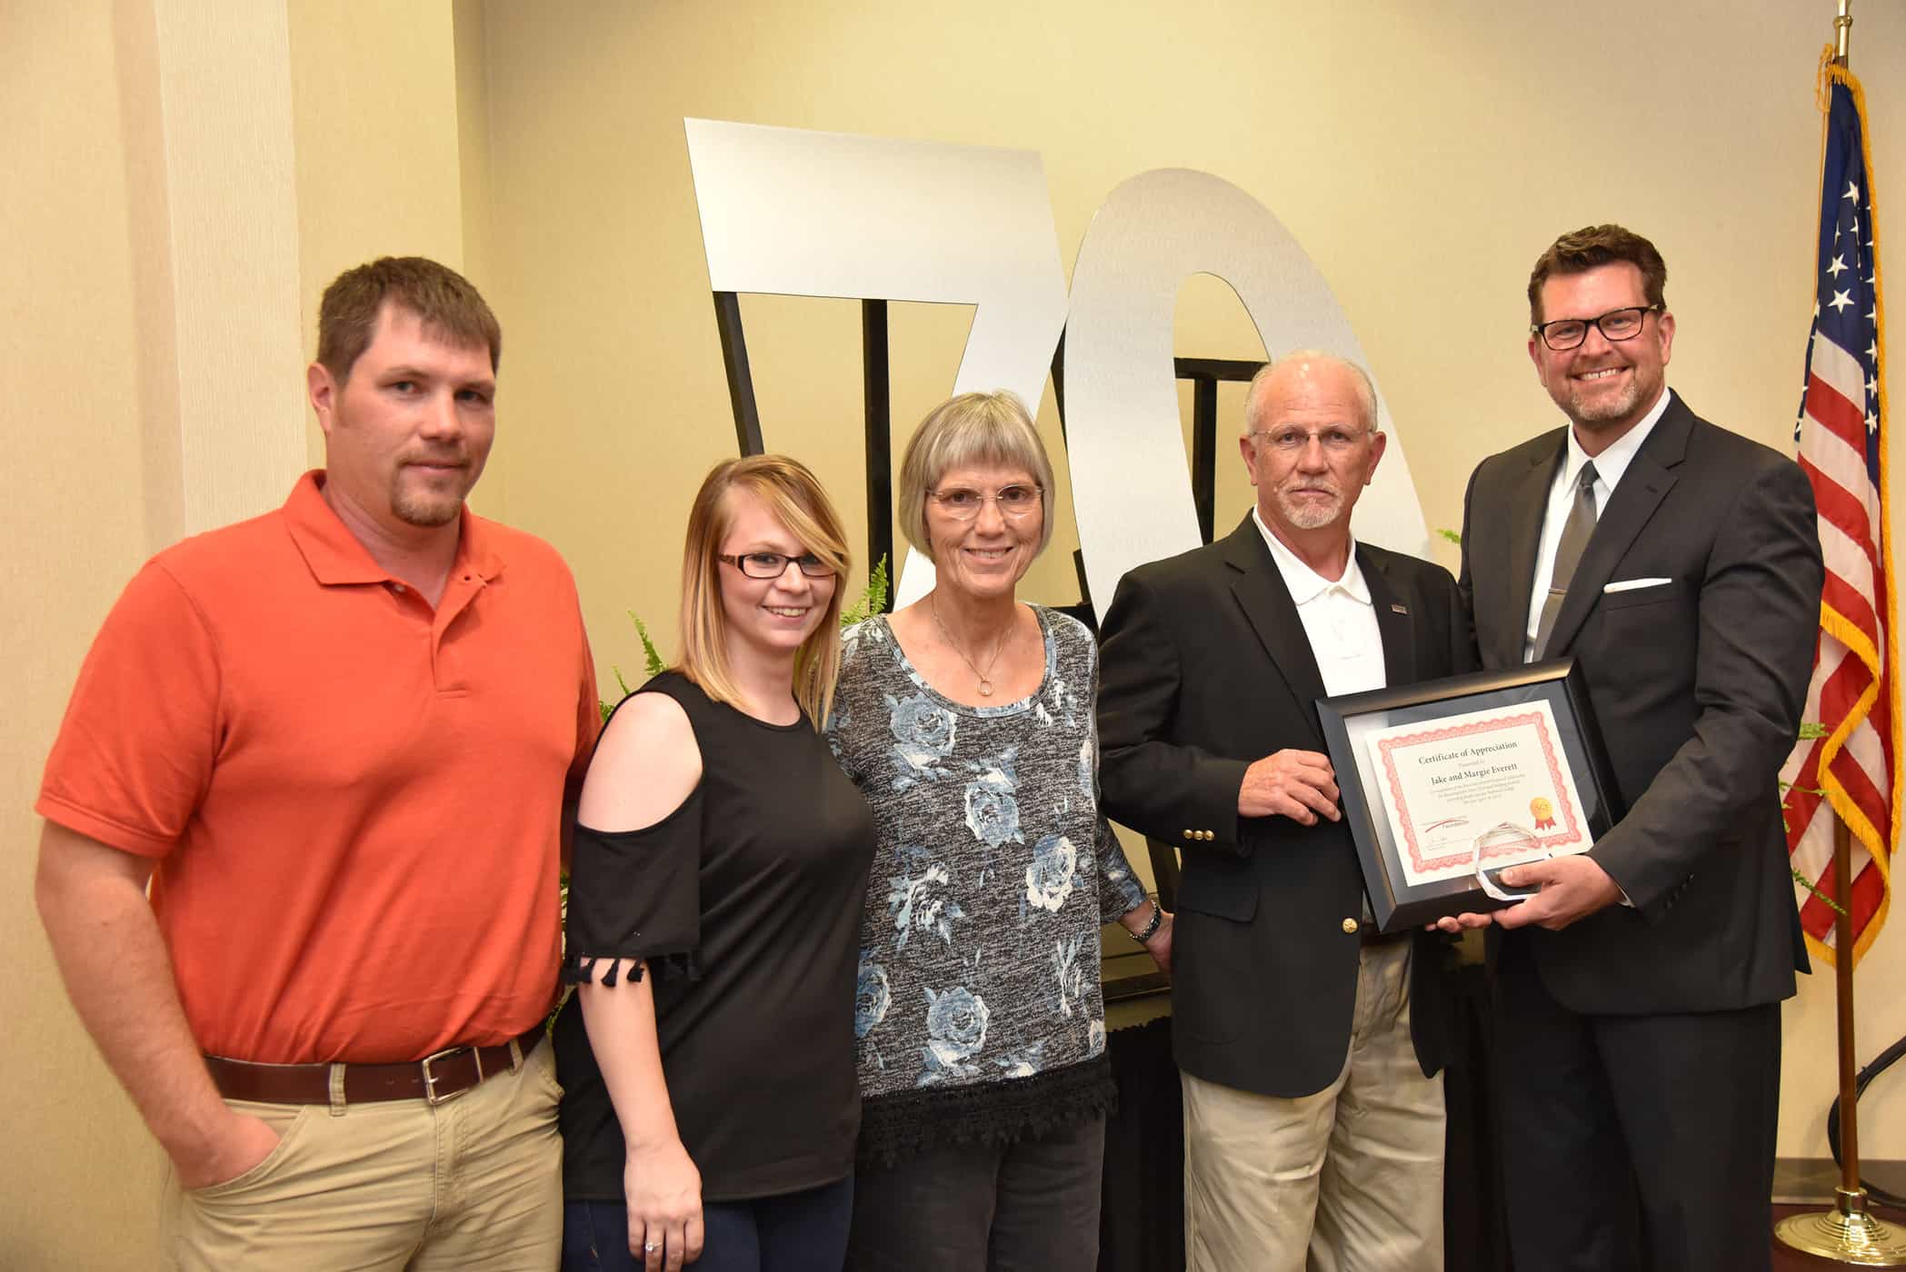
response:
[[[844,1259],[873,817],[818,725],[846,569],[802,465],[757,455],[701,484],[682,659],[602,727],[581,794],[579,990],[557,1021],[566,1270]]]

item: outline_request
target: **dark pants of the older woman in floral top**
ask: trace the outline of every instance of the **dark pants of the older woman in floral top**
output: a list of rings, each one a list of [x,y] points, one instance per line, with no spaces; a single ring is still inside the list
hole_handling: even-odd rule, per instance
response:
[[[856,1179],[852,1272],[1094,1272],[1105,1118]]]

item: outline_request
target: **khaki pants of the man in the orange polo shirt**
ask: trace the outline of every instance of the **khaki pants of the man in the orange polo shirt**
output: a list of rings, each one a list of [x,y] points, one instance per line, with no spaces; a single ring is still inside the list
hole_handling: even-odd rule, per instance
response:
[[[160,1266],[549,1272],[562,1247],[555,1047],[435,1108],[257,1104],[282,1141],[255,1167],[181,1190],[166,1171]]]

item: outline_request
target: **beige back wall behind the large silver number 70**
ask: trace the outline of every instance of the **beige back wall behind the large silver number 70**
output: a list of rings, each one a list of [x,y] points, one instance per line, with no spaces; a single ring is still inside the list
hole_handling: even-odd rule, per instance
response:
[[[1881,211],[1906,206],[1906,13],[1856,6]],[[673,615],[696,480],[732,453],[680,116],[1027,147],[1044,154],[1071,265],[1113,185],[1214,171],[1267,204],[1330,280],[1382,379],[1431,527],[1462,518],[1473,463],[1555,421],[1525,356],[1529,265],[1616,219],[1666,253],[1673,385],[1788,447],[1811,308],[1824,6],[1456,0],[486,6],[490,234],[513,324],[511,516],[576,567],[597,657],[639,666],[623,611]],[[1895,221],[1898,213],[1893,213]],[[1883,248],[1902,261],[1906,230]],[[1895,267],[1895,278],[1906,268]],[[1895,291],[1900,284],[1895,284]],[[846,301],[743,303],[768,444],[810,459],[860,524],[860,335]],[[953,381],[970,314],[894,310],[894,419]],[[1260,356],[1235,297],[1180,293],[1178,352]],[[1220,398],[1235,419],[1239,392]],[[1043,411],[1048,438],[1050,394]],[[1218,520],[1248,507],[1229,451]],[[1069,503],[1027,581],[1077,598]],[[1454,550],[1439,547],[1454,566]],[[1906,1032],[1895,924],[1864,965],[1860,1055]],[[1786,1007],[1780,1150],[1824,1156],[1832,977]],[[1906,1089],[1876,1087],[1866,1150],[1906,1156]]]

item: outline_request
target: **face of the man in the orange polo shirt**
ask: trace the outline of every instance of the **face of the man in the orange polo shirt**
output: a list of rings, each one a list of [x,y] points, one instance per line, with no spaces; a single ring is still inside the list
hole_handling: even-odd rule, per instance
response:
[[[496,373],[480,345],[446,345],[385,305],[370,345],[337,383],[307,371],[324,430],[324,495],[391,537],[452,526],[496,438]]]

